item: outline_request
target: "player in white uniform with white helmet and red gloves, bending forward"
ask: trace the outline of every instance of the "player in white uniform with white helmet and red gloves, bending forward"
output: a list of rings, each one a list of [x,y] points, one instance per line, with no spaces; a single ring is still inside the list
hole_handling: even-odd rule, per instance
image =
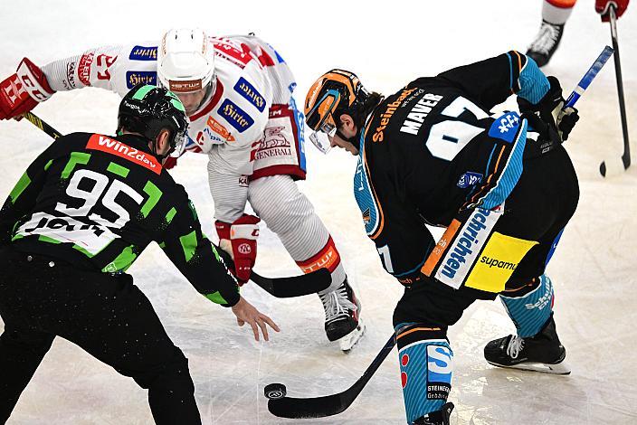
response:
[[[319,293],[326,334],[350,349],[364,332],[360,303],[328,229],[295,184],[306,175],[303,114],[290,68],[266,42],[179,29],[159,43],[90,49],[42,68],[24,58],[0,82],[0,118],[19,117],[56,91],[99,87],[124,96],[139,82],[164,86],[184,103],[185,149],[209,157],[215,227],[237,279],[249,279],[261,219],[304,272],[329,269],[332,284]],[[244,213],[246,201],[258,217]]]

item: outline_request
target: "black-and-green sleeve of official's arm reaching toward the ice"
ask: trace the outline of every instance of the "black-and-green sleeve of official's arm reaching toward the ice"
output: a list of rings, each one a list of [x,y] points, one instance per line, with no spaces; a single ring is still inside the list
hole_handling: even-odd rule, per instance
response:
[[[159,246],[195,289],[211,301],[232,307],[239,286],[201,230],[195,207],[179,186],[179,202],[166,213],[166,229]]]

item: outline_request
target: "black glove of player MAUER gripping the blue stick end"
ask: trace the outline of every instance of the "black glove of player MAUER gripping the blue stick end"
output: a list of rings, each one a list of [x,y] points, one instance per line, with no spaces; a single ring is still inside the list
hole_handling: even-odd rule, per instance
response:
[[[575,123],[579,119],[577,109],[562,109],[565,99],[562,97],[562,87],[555,77],[548,77],[550,88],[537,104],[518,97],[518,107],[522,118],[528,119],[529,126],[539,133],[543,140],[550,140],[554,144],[561,144],[568,139]]]

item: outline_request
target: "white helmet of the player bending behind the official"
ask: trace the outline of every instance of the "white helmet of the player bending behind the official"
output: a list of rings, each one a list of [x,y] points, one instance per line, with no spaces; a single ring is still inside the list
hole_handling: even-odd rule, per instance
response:
[[[157,49],[157,80],[175,93],[214,88],[214,49],[200,29],[169,30]]]

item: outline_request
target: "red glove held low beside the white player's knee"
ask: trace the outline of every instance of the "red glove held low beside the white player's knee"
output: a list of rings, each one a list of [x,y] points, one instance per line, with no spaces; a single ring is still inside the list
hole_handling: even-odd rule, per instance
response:
[[[218,220],[214,222],[219,235],[219,246],[231,254],[234,276],[240,285],[250,280],[252,267],[257,259],[259,222],[259,217],[250,214],[243,214],[232,224]]]

